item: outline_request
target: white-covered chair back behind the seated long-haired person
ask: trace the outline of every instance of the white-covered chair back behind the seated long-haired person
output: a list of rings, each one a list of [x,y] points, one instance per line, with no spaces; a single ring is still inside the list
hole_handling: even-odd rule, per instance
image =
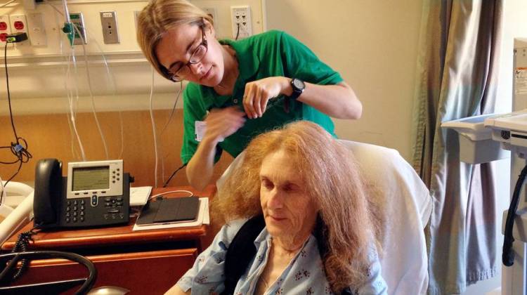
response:
[[[388,294],[426,294],[428,258],[424,226],[432,208],[429,190],[396,150],[349,140],[340,142],[355,155],[368,185],[380,193],[377,202],[382,203],[386,214],[381,265]],[[243,154],[219,178],[218,188],[242,161]]]

